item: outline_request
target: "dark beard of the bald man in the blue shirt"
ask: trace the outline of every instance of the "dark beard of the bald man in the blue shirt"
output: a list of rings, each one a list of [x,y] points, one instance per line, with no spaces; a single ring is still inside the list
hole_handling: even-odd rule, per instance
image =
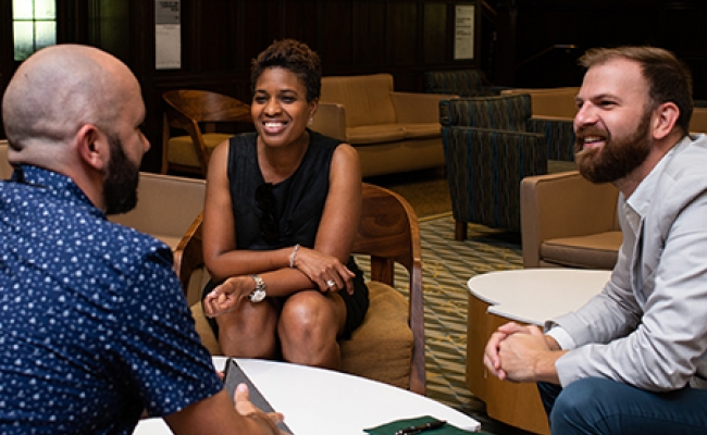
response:
[[[139,165],[131,162],[119,138],[109,138],[111,160],[103,182],[106,214],[127,213],[137,204]]]

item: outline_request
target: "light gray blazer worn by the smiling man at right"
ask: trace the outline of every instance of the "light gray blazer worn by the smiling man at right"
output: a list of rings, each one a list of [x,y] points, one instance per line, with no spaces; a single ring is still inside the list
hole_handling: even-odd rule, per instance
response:
[[[623,245],[611,279],[554,320],[576,345],[556,363],[560,382],[707,388],[707,137],[680,141],[618,207]]]

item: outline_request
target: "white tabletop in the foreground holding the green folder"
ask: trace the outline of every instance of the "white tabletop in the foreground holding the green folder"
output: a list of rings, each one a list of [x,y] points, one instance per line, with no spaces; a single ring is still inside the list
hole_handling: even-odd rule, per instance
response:
[[[443,403],[363,377],[274,361],[237,359],[295,435],[361,435],[363,428],[422,415],[477,431],[474,419]],[[213,357],[223,369],[224,357]],[[134,434],[171,434],[162,419],[142,420]]]

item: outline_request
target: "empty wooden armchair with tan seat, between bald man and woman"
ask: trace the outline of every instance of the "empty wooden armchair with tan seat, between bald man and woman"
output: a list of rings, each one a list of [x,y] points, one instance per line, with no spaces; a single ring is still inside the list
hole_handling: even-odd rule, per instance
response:
[[[232,134],[216,133],[215,123],[250,123],[250,105],[235,98],[204,90],[169,90],[162,125],[162,174],[169,171],[206,176],[211,150]],[[203,132],[199,124],[203,125]],[[187,136],[171,137],[171,128]]]

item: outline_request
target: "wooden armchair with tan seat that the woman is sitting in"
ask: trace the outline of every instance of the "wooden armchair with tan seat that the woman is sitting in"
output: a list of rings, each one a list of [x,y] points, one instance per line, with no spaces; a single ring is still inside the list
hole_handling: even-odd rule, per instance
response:
[[[175,256],[179,261],[175,269],[187,295],[198,291],[189,289],[189,282],[193,272],[203,264],[201,249],[199,215]],[[371,304],[363,324],[350,339],[340,341],[343,371],[424,395],[422,257],[418,219],[410,204],[390,190],[363,184],[361,221],[352,252],[370,256],[367,284]],[[393,288],[395,263],[408,271],[407,298]],[[191,313],[204,346],[212,355],[222,355],[200,302],[191,306]]]

